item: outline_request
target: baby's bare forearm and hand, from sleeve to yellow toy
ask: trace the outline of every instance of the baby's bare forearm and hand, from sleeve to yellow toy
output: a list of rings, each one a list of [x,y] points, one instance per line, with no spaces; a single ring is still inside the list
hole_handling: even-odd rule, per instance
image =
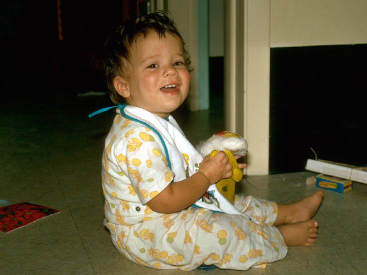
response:
[[[208,189],[222,178],[232,175],[232,165],[223,151],[213,158],[204,157],[199,170],[192,176],[177,182],[171,182],[157,196],[147,202],[156,212],[174,213],[197,201]]]

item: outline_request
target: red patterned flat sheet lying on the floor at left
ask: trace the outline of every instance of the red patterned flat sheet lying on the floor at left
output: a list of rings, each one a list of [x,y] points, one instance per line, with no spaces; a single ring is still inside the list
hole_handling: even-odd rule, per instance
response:
[[[9,233],[41,218],[59,213],[60,210],[30,202],[0,207],[0,231]]]

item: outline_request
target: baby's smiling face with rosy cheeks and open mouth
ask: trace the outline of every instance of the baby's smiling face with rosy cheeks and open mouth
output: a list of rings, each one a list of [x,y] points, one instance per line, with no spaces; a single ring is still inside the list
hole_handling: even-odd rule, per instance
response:
[[[129,105],[167,117],[185,100],[190,73],[180,38],[151,31],[131,48],[128,80]]]

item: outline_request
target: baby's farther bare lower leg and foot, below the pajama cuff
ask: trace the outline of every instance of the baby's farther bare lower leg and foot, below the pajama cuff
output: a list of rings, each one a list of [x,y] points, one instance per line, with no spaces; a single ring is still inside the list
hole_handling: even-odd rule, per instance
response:
[[[295,203],[278,204],[278,216],[273,225],[309,220],[315,215],[322,197],[323,191],[319,190]]]

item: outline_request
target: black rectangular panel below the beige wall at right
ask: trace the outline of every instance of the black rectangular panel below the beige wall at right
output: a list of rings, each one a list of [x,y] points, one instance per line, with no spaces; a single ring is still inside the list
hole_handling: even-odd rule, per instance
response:
[[[367,165],[367,44],[271,49],[270,173]]]

